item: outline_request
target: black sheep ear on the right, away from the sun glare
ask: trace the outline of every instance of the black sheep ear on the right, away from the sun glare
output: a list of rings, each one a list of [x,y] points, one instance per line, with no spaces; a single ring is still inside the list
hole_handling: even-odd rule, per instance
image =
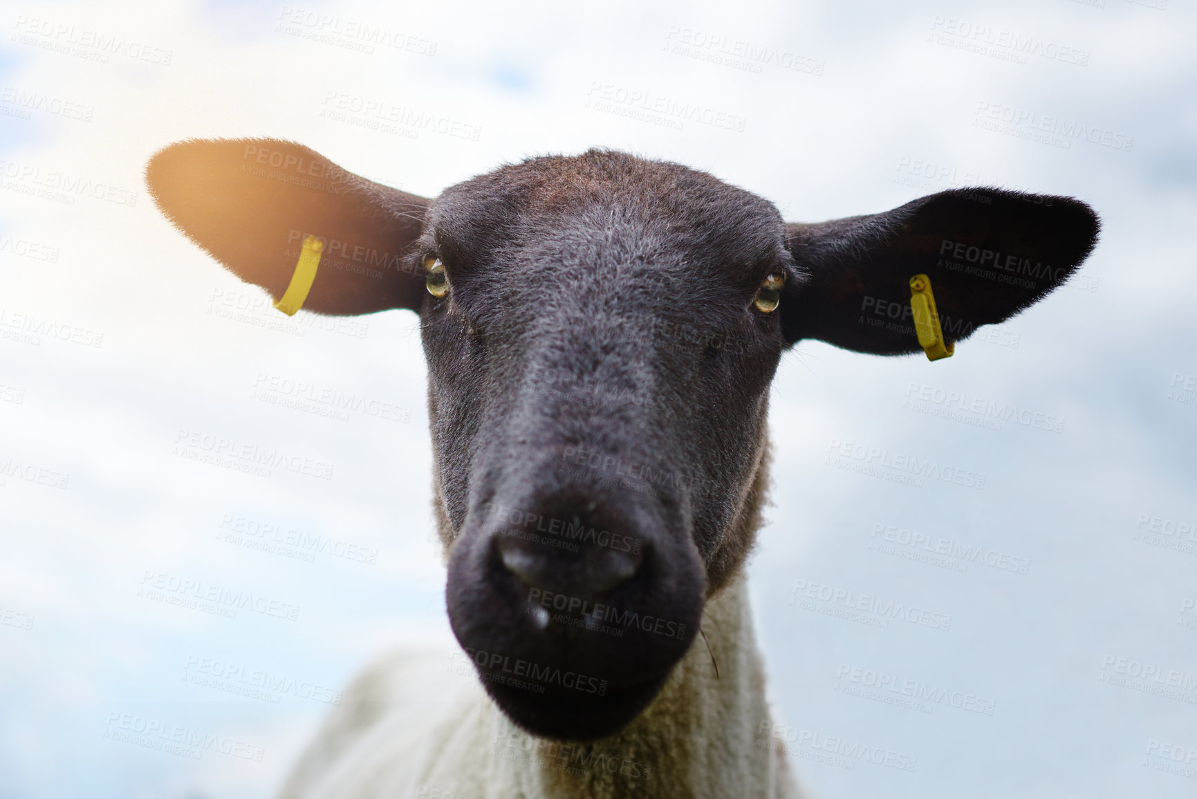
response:
[[[910,279],[930,278],[946,343],[1009,319],[1068,279],[1093,250],[1099,222],[1067,196],[953,189],[888,211],[788,224],[797,267],[782,297],[786,341],[857,352],[920,350]]]

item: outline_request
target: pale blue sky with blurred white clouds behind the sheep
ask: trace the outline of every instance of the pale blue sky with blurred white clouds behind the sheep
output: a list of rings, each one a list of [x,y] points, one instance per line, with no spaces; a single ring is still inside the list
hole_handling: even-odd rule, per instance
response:
[[[426,196],[606,146],[791,220],[972,184],[1088,201],[1082,272],[955,357],[785,356],[758,635],[785,725],[907,765],[797,746],[814,797],[1197,795],[1195,24],[1177,0],[5,4],[0,798],[268,797],[372,656],[452,642],[415,315],[287,319],[146,193],[159,147],[259,135]],[[322,466],[209,462],[215,440]],[[862,473],[865,449],[984,485]],[[950,621],[840,618],[847,592]],[[175,727],[221,744],[162,747]]]

